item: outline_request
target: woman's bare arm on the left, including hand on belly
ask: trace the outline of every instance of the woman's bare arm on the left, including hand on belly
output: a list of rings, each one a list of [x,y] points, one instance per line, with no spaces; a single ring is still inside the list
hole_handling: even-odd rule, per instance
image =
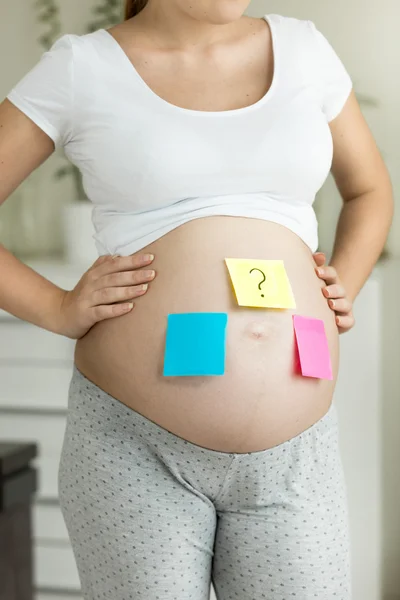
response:
[[[8,100],[0,104],[0,205],[54,151],[46,133]],[[152,256],[99,257],[73,290],[63,290],[0,244],[0,308],[79,339],[98,321],[129,312],[154,275],[140,271]]]

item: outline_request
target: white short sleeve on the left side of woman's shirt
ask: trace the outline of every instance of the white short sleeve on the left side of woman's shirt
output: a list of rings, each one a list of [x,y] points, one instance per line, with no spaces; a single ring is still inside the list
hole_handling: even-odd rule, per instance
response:
[[[53,140],[56,148],[72,136],[74,73],[70,37],[60,37],[7,95]]]

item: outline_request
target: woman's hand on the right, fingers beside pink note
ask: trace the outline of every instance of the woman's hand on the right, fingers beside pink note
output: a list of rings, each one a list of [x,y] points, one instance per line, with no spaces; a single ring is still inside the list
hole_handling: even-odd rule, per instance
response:
[[[355,323],[353,304],[346,297],[346,291],[340,282],[335,267],[325,265],[325,254],[323,252],[316,252],[313,257],[317,264],[315,271],[318,277],[326,283],[326,287],[322,288],[322,293],[328,300],[329,308],[335,313],[339,333],[345,333]]]

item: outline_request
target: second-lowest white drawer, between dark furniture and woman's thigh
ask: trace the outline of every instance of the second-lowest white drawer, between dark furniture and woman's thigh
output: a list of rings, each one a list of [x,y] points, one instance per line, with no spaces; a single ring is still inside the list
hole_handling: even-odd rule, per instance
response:
[[[69,543],[68,531],[58,504],[41,504],[34,502],[32,506],[33,537],[39,542]]]

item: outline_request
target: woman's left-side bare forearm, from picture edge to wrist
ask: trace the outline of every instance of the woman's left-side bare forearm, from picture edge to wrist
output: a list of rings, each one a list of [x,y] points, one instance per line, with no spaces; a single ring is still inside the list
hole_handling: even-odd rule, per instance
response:
[[[65,290],[19,261],[0,244],[0,309],[43,329],[60,332]]]

